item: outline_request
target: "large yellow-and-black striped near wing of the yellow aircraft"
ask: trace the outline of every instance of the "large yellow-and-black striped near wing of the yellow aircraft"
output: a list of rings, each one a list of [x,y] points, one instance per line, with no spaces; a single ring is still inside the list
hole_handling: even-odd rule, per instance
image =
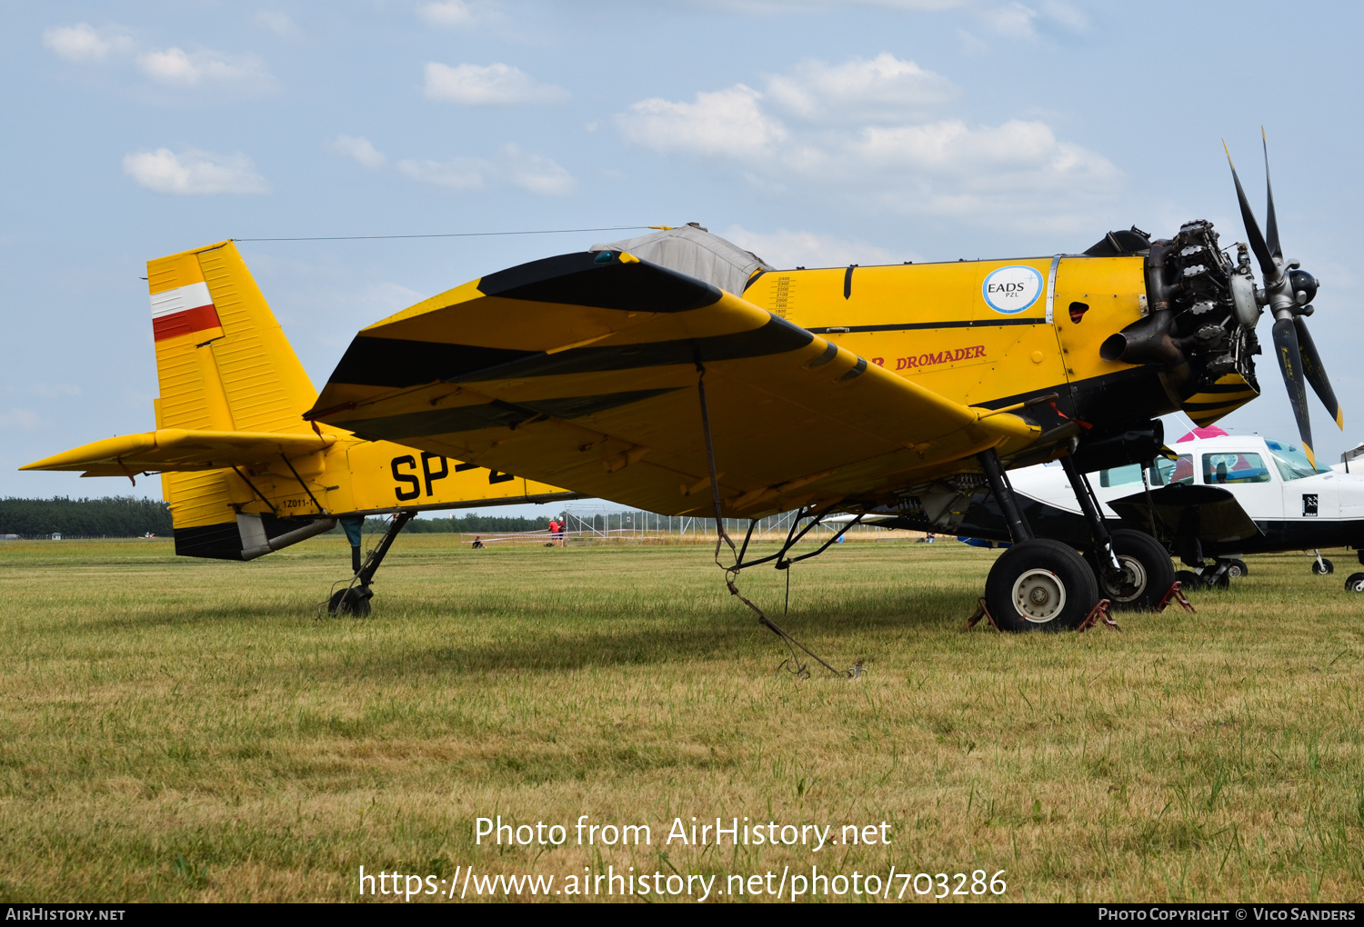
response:
[[[649,511],[711,514],[701,368],[727,517],[893,500],[1041,431],[625,252],[513,267],[364,329],[307,417]]]

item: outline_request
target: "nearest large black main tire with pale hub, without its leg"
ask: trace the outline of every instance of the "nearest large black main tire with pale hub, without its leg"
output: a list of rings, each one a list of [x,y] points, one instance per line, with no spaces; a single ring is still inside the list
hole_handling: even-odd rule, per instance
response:
[[[1067,544],[1037,538],[1015,544],[985,581],[985,604],[1004,631],[1068,631],[1099,601],[1094,571]]]

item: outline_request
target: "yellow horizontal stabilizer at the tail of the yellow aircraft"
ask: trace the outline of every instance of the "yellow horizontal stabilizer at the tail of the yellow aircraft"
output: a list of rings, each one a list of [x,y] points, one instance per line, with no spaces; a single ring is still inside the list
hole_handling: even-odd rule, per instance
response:
[[[85,470],[85,476],[132,476],[218,470],[299,457],[336,443],[336,435],[158,428],[106,438],[35,461],[20,470]]]

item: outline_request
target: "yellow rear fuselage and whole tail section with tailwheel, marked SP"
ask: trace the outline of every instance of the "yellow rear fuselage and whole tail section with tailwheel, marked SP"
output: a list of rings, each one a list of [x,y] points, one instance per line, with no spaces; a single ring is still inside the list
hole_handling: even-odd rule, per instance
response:
[[[85,444],[22,468],[85,476],[161,473],[176,553],[252,560],[340,521],[353,578],[331,611],[368,612],[393,536],[430,508],[576,499],[576,493],[439,453],[319,428],[318,393],[236,245],[147,263],[161,397],[155,431]],[[366,515],[394,513],[360,558]]]

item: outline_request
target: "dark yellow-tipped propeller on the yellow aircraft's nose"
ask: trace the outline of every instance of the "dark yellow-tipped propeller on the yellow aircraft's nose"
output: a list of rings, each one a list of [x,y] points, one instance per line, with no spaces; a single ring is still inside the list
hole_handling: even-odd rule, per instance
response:
[[[1236,176],[1230,150],[1226,151],[1226,162],[1232,166],[1236,199],[1241,204],[1241,221],[1245,222],[1245,237],[1249,240],[1248,244],[1264,278],[1262,301],[1269,304],[1274,315],[1274,353],[1278,356],[1279,371],[1284,374],[1288,398],[1293,404],[1293,416],[1297,419],[1303,449],[1315,466],[1312,425],[1307,414],[1307,387],[1312,387],[1341,428],[1345,428],[1345,413],[1335,399],[1331,382],[1322,365],[1322,356],[1316,353],[1316,345],[1312,344],[1312,335],[1307,330],[1305,316],[1312,315],[1311,301],[1316,296],[1318,281],[1312,274],[1301,270],[1297,262],[1286,266],[1284,262],[1284,249],[1279,247],[1278,237],[1278,218],[1274,214],[1274,187],[1270,184],[1270,149],[1263,127],[1260,128],[1260,143],[1264,147],[1264,191],[1269,199],[1264,228],[1269,232],[1269,240],[1260,234],[1255,213],[1251,211],[1251,203],[1245,199],[1245,191],[1241,188],[1241,179]],[[1222,147],[1226,149],[1225,142]]]

